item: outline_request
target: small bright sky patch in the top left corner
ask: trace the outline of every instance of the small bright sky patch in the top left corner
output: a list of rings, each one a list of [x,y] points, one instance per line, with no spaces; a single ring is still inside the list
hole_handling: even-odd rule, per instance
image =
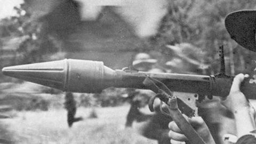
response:
[[[23,0],[0,0],[0,19],[16,15],[14,6],[22,4]]]

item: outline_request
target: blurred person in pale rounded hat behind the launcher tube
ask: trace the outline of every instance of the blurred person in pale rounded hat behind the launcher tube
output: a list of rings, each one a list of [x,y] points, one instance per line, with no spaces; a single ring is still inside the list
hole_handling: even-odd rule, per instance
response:
[[[151,73],[165,73],[164,70],[157,68],[157,60],[152,59],[147,53],[139,53],[135,55],[133,67],[139,71],[149,71]],[[155,103],[155,113],[143,113],[140,108],[148,105],[150,97],[155,93],[150,90],[129,90],[129,98],[131,99],[131,107],[126,117],[126,127],[131,127],[134,121],[144,122],[140,124],[139,133],[146,138],[155,139],[159,144],[170,143],[168,137],[168,123],[170,117],[163,115],[159,109],[159,103]],[[159,101],[158,101],[159,102]]]

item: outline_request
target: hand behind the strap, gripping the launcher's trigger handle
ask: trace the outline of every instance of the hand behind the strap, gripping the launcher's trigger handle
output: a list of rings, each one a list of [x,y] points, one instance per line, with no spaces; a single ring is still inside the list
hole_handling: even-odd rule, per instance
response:
[[[214,143],[210,130],[208,129],[202,117],[197,116],[187,118],[185,116],[185,118],[206,143]],[[183,134],[183,132],[179,129],[174,121],[169,123],[169,129],[169,137],[171,138],[172,144],[185,144],[186,141],[188,141],[187,137]]]

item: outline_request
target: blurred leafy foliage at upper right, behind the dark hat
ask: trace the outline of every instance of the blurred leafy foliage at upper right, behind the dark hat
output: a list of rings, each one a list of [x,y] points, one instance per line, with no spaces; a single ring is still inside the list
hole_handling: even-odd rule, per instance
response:
[[[229,66],[227,72],[231,75],[251,73],[255,68],[255,54],[231,40],[224,21],[230,12],[255,8],[255,1],[171,1],[169,13],[163,19],[158,34],[149,39],[148,45],[152,49],[166,52],[166,44],[191,43],[206,52],[204,61],[211,65],[210,74],[218,72],[218,48],[224,45],[226,59],[229,60],[227,65],[234,63],[236,66]]]

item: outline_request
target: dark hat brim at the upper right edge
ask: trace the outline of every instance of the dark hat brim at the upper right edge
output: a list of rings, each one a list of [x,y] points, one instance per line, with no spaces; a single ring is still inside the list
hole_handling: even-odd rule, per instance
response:
[[[256,52],[256,11],[243,10],[230,13],[225,19],[225,26],[231,38],[239,45]]]

